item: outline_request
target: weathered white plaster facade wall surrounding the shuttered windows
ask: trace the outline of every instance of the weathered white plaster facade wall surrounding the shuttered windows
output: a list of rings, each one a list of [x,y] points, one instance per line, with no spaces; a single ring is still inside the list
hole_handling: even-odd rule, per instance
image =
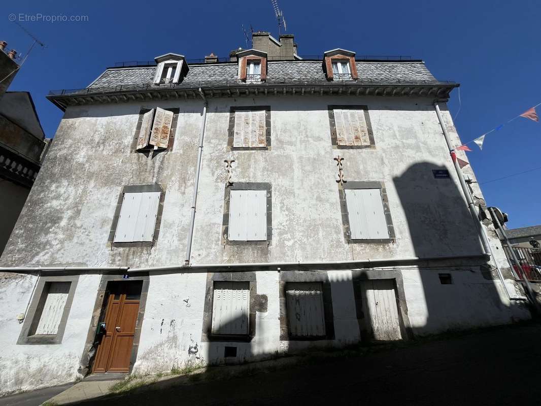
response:
[[[348,96],[209,99],[192,263],[337,261],[481,253],[431,102],[428,99]],[[348,103],[368,106],[375,148],[332,147],[327,106]],[[230,107],[262,104],[271,106],[271,149],[229,151]],[[149,157],[134,153],[130,147],[140,109],[155,105],[119,103],[67,110],[0,265],[183,264],[202,101],[167,101],[158,105],[180,108],[179,121],[173,149]],[[453,142],[459,145],[450,115],[446,111],[443,114]],[[459,156],[465,159],[462,154]],[[345,158],[346,180],[385,183],[396,234],[393,244],[348,245],[344,240],[335,181],[338,170],[333,160],[337,155]],[[268,247],[222,244],[227,177],[223,161],[227,158],[235,159],[234,181],[272,184],[273,237]],[[448,169],[451,179],[434,179],[432,169]],[[465,172],[468,171],[466,168]],[[111,248],[107,239],[122,187],[155,183],[166,190],[157,244],[151,248]],[[477,185],[473,189],[481,201]],[[506,266],[492,229],[489,234],[497,260]],[[479,265],[478,258],[471,258],[425,264],[422,270],[415,266],[400,269],[408,318],[415,333],[506,323],[512,318],[529,316],[527,310],[507,300],[496,274],[481,272]],[[451,272],[454,283],[440,285],[438,272]],[[332,344],[355,342],[359,339],[359,325],[351,271],[329,271],[328,276],[335,326]],[[278,270],[258,271],[256,277],[257,293],[268,298],[267,311],[256,313],[256,335],[252,342],[234,344],[237,358],[266,357],[276,351],[329,344],[326,341],[280,342]],[[97,279],[92,279],[92,283],[93,286],[90,281],[87,284],[88,292],[97,289]],[[514,289],[511,281],[509,285]],[[10,298],[4,299],[6,305],[16,306],[14,296],[29,295],[30,286],[14,289],[9,283],[6,286],[5,289],[10,290]],[[82,286],[80,282],[77,292]],[[205,289],[204,272],[151,274],[135,372],[167,371],[186,361],[219,361],[226,343],[201,341]],[[87,298],[89,303],[81,302],[78,307],[79,320],[87,322],[84,326],[80,323],[77,337],[73,330],[77,323],[72,324],[74,337],[68,340],[66,349],[63,344],[21,351],[20,346],[14,345],[17,329],[11,327],[12,330],[2,331],[2,343],[11,343],[11,352],[3,362],[8,366],[26,365],[25,354],[41,351],[39,357],[32,359],[35,365],[48,369],[52,368],[50,359],[61,353],[63,362],[69,365],[62,366],[64,375],[55,372],[59,376],[55,382],[74,377],[94,299],[95,296]],[[74,300],[74,307],[75,303]],[[6,314],[21,312],[17,309]],[[70,314],[69,323],[72,316]],[[16,355],[19,353],[22,355]],[[38,366],[32,365],[24,368],[37,371]],[[38,385],[32,380],[17,383],[11,375],[2,379],[11,382],[10,387],[15,389]]]

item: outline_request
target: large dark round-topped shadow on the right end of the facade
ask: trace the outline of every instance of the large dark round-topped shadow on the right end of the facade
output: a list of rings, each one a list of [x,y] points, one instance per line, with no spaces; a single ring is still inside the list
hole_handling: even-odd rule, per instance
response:
[[[483,248],[461,190],[452,174],[451,178],[434,174],[446,170],[434,163],[419,162],[393,179],[415,256],[479,257]],[[423,291],[417,292],[419,300],[424,295],[426,319],[411,320],[415,334],[509,321],[494,285],[496,275],[483,258],[426,265],[419,271]],[[414,289],[408,289],[406,281],[406,294],[414,295]]]

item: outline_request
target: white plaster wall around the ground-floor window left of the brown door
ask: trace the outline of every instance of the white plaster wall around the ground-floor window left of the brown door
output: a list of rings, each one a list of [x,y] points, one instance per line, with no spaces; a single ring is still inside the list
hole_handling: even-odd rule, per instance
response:
[[[79,277],[62,344],[17,345],[36,276],[0,273],[0,396],[75,381],[100,276]],[[93,293],[94,292],[94,293]]]

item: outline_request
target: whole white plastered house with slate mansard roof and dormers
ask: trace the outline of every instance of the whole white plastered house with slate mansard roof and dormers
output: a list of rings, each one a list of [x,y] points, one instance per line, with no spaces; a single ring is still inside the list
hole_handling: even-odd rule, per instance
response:
[[[0,259],[3,392],[530,317],[453,169],[434,104],[459,146],[457,83],[253,40],[50,93],[64,117]]]

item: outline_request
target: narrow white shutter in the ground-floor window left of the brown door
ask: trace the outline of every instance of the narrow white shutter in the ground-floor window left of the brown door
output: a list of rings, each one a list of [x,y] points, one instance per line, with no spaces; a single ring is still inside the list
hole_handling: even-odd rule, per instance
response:
[[[68,300],[71,282],[50,282],[36,334],[56,334]]]

